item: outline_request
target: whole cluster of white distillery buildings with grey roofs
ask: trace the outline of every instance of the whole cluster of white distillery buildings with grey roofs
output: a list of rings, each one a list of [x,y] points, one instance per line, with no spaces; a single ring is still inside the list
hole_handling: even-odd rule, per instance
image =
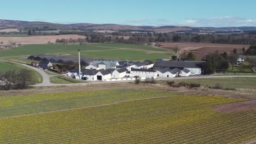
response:
[[[95,59],[85,69],[73,69],[68,76],[88,81],[124,81],[156,79],[158,77],[177,77],[203,74],[205,62],[202,61],[151,61],[132,62],[115,59]]]

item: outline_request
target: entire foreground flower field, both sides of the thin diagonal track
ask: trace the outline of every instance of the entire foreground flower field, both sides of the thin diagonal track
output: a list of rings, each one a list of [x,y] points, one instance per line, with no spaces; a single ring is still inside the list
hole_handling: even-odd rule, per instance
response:
[[[256,138],[255,111],[212,109],[246,99],[120,89],[0,100],[0,143],[242,143]]]

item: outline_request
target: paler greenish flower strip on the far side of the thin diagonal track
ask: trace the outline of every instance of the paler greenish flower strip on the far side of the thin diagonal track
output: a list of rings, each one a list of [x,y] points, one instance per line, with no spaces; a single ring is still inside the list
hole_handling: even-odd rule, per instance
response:
[[[155,90],[109,89],[98,91],[57,92],[0,97],[0,117],[74,109],[115,101],[177,95]]]

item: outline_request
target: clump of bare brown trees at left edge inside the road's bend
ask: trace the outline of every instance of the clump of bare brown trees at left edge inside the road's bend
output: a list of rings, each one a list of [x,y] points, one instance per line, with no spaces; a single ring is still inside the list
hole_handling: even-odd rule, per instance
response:
[[[26,89],[34,84],[31,71],[27,69],[0,71],[0,77],[0,90]]]

